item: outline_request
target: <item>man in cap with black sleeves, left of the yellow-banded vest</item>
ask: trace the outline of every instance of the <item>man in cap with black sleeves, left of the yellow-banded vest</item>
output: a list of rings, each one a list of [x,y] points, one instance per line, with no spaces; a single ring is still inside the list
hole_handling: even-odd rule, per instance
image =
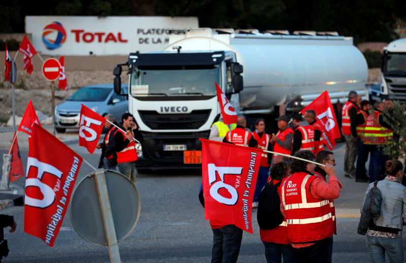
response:
[[[361,112],[351,121],[351,134],[357,140],[357,168],[355,171],[356,182],[368,182],[366,177],[365,162],[368,159],[369,146],[364,144],[366,119],[369,115],[371,104],[368,101],[361,102]]]

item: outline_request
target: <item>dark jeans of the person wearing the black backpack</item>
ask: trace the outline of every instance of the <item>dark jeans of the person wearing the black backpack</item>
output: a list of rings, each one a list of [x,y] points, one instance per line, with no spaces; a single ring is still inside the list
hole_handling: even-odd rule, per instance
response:
[[[292,245],[262,242],[265,246],[265,258],[267,263],[296,262]]]

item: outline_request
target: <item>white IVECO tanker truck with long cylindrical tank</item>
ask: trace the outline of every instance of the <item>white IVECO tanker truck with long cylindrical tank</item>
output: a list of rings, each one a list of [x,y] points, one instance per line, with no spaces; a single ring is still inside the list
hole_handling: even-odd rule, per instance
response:
[[[367,96],[367,64],[350,37],[336,32],[198,28],[173,30],[160,52],[130,53],[129,112],[144,136],[139,172],[201,168],[199,138],[220,116],[215,82],[236,112],[278,116],[300,110],[323,91],[333,103],[350,90]],[[267,124],[268,125],[268,124]]]

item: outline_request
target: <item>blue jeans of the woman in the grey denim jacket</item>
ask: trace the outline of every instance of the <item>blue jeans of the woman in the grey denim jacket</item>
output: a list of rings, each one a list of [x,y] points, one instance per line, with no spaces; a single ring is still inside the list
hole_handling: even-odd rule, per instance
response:
[[[385,262],[385,251],[390,263],[403,262],[402,238],[381,238],[366,236],[366,246],[373,263]]]

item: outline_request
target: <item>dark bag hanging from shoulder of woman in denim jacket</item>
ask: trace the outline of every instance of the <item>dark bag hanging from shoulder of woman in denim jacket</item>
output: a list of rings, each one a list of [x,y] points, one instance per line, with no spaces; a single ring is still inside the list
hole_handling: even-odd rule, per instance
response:
[[[357,229],[357,233],[360,235],[365,235],[370,221],[373,220],[374,216],[381,214],[382,195],[377,184],[378,181],[375,181],[374,187],[372,187],[366,195]]]

